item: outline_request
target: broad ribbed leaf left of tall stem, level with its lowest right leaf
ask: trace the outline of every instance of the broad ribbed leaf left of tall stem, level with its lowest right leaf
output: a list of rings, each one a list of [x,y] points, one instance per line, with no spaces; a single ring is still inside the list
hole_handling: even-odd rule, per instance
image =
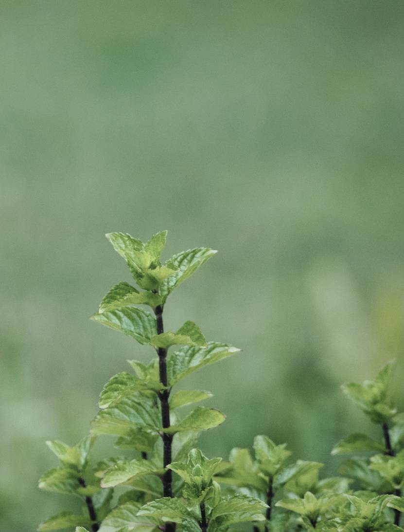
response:
[[[133,436],[140,430],[157,432],[161,428],[158,408],[147,397],[125,397],[119,403],[102,410],[91,422],[92,434]]]

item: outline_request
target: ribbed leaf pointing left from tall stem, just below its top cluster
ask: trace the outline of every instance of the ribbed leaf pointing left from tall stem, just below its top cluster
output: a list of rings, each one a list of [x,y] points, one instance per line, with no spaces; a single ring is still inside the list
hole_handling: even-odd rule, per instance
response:
[[[143,345],[149,344],[150,338],[156,332],[155,317],[150,312],[136,306],[94,314],[91,319],[106,327],[121,331]]]

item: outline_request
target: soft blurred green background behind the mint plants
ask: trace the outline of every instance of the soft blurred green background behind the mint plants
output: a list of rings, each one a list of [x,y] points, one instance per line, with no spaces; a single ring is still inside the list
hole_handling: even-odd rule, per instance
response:
[[[153,354],[88,320],[129,280],[108,231],[220,251],[165,310],[243,350],[186,382],[228,415],[206,453],[265,433],[331,472],[377,434],[341,383],[398,358],[402,404],[403,35],[401,0],[2,0],[1,530],[66,508],[44,440]]]

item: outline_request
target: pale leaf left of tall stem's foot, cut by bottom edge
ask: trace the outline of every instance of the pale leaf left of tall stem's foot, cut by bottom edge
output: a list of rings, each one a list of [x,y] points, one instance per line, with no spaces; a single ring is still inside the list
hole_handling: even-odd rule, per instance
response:
[[[136,501],[128,501],[116,506],[103,520],[99,532],[119,532],[125,530],[137,532],[150,532],[156,527],[156,520],[148,517],[137,517],[141,504]]]

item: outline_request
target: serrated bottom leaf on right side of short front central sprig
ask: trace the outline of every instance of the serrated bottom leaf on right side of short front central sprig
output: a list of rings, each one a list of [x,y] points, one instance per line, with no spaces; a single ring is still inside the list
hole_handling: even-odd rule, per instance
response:
[[[264,521],[265,508],[268,508],[267,504],[257,498],[239,494],[228,495],[213,509],[208,530],[243,521]]]

